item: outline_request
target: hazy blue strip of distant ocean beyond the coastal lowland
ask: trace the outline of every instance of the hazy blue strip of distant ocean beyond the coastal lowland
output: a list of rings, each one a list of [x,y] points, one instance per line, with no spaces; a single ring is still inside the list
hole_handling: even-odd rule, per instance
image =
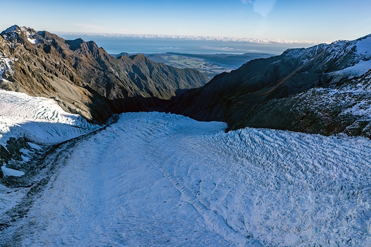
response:
[[[84,41],[95,41],[109,54],[127,53],[190,53],[190,54],[242,54],[258,52],[281,54],[288,48],[301,48],[314,45],[308,43],[254,43],[220,40],[190,40],[174,38],[138,38],[138,37],[104,37],[84,34],[63,35],[66,40],[81,38]]]

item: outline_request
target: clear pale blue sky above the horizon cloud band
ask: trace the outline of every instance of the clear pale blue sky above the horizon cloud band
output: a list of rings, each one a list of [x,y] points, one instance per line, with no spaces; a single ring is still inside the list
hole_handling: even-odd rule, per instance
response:
[[[331,42],[371,34],[370,0],[1,0],[0,29]],[[4,7],[6,6],[6,7]]]

